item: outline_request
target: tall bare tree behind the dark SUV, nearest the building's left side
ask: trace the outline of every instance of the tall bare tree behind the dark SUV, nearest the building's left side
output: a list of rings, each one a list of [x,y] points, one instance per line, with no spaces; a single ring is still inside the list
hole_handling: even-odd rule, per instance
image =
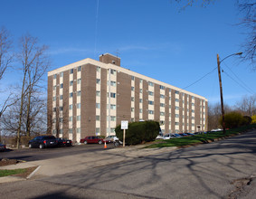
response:
[[[26,104],[26,133],[30,134],[30,120],[31,120],[31,98],[33,89],[39,86],[39,81],[42,80],[43,74],[49,67],[49,59],[46,55],[47,46],[40,46],[37,38],[26,34],[20,41],[20,52],[18,53],[18,60],[22,63],[23,84],[20,97],[19,121],[17,128],[17,147],[20,145],[20,134],[22,128],[22,118],[24,114],[24,100]]]

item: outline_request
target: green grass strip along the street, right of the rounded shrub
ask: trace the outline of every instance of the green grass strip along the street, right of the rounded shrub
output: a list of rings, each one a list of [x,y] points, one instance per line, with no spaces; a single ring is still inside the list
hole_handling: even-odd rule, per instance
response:
[[[213,142],[215,139],[232,137],[253,128],[256,128],[256,124],[251,124],[251,125],[240,127],[240,128],[228,129],[226,130],[225,134],[223,134],[223,131],[218,131],[218,132],[210,132],[206,134],[194,135],[192,137],[180,137],[180,138],[175,137],[175,138],[166,139],[166,140],[160,139],[160,140],[156,140],[154,144],[147,146],[147,148],[185,147],[185,146],[191,146],[196,144],[209,143],[209,142]]]

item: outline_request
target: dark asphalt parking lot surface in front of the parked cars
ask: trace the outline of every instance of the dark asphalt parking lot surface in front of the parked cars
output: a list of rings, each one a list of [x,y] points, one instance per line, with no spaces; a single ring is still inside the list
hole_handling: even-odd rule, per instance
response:
[[[77,154],[83,154],[93,151],[108,150],[114,147],[112,143],[107,144],[107,149],[104,148],[104,145],[98,144],[88,144],[88,145],[78,145],[74,147],[54,147],[54,148],[21,148],[7,150],[5,152],[0,152],[0,159],[9,158],[9,159],[18,159],[24,161],[35,161],[43,159],[51,159],[54,157],[60,156],[71,156]]]

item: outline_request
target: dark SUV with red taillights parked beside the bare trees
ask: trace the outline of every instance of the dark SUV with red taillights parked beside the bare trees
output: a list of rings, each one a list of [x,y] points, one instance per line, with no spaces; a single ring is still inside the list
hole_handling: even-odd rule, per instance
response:
[[[54,136],[39,136],[34,137],[28,142],[28,147],[39,147],[43,149],[44,147],[57,147],[58,140]]]

